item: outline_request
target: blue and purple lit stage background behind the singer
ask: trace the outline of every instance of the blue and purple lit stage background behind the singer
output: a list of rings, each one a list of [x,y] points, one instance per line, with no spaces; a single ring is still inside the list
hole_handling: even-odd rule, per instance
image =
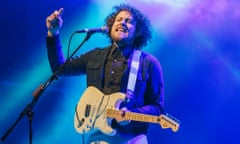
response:
[[[59,0],[4,1],[0,5],[0,136],[51,75],[45,18],[64,8],[61,39],[65,53],[73,31],[103,25],[113,5],[132,4],[150,18],[153,41],[144,48],[162,64],[166,111],[179,120],[177,133],[152,125],[150,144],[239,144],[240,2],[238,0]],[[71,50],[84,34],[74,37]],[[108,39],[95,34],[78,55]],[[85,76],[61,77],[34,107],[33,144],[81,143],[74,108]],[[25,116],[3,144],[29,142]]]

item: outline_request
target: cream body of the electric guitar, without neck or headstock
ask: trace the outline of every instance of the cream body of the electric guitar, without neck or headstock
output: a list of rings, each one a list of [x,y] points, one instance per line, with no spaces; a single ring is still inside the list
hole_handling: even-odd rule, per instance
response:
[[[80,134],[91,133],[100,130],[106,135],[115,135],[111,128],[112,118],[107,117],[106,110],[118,110],[125,94],[114,93],[104,95],[95,87],[88,87],[81,96],[74,117],[74,127]]]

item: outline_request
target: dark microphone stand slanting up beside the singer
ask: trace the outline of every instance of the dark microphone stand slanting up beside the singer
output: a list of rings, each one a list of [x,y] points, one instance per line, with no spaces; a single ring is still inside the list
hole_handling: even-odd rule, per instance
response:
[[[76,32],[75,32],[76,33]],[[49,79],[41,84],[34,92],[32,102],[29,103],[21,112],[17,120],[13,123],[13,125],[5,132],[5,134],[1,137],[1,141],[3,142],[7,136],[11,133],[11,131],[15,128],[18,122],[25,116],[28,116],[29,120],[29,144],[32,144],[32,118],[33,118],[33,108],[40,98],[41,94],[46,90],[46,88],[51,84],[53,80],[57,79],[57,75],[64,69],[65,65],[70,61],[70,59],[77,53],[77,51],[82,47],[82,45],[91,37],[93,32],[87,32],[84,40],[80,43],[80,45],[74,50],[74,52],[70,55],[70,57],[49,77]]]

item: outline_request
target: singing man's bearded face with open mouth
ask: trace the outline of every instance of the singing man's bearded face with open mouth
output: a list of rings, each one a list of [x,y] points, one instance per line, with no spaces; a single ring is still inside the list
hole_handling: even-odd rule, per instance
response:
[[[111,29],[111,37],[119,46],[133,41],[136,29],[136,21],[128,11],[121,11],[115,18]]]

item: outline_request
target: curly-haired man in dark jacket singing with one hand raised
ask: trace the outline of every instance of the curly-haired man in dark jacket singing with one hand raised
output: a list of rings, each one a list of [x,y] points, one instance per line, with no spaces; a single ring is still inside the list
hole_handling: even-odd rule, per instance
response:
[[[65,59],[61,50],[60,28],[63,9],[53,12],[46,19],[48,28],[48,58],[53,71],[61,66]],[[126,93],[129,100],[122,103],[120,109],[125,111],[160,115],[164,112],[164,88],[161,65],[156,58],[145,52],[140,53],[136,83],[129,93],[128,81],[131,61],[135,50],[146,46],[151,39],[150,22],[139,10],[121,4],[105,19],[109,31],[107,36],[111,44],[106,48],[96,48],[80,57],[71,59],[59,75],[87,75],[87,86],[94,86],[104,94]],[[124,115],[123,115],[124,116]],[[114,119],[111,126],[117,130],[114,136],[107,136],[101,131],[90,135],[88,143],[109,144],[147,144],[148,124],[137,121]]]

